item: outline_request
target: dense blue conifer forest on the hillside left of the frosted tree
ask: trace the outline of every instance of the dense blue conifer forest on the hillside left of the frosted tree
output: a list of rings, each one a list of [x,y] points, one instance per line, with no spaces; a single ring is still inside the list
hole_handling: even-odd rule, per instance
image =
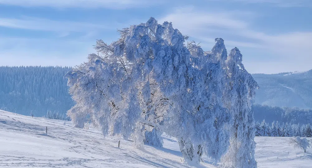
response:
[[[0,109],[43,117],[47,111],[66,114],[74,102],[64,75],[71,67],[0,66]]]

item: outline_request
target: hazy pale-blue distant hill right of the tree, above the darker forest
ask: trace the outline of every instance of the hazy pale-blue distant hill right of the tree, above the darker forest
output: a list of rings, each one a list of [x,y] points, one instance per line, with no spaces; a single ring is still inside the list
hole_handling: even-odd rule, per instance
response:
[[[252,76],[260,86],[256,91],[257,104],[312,108],[312,69],[306,72]]]

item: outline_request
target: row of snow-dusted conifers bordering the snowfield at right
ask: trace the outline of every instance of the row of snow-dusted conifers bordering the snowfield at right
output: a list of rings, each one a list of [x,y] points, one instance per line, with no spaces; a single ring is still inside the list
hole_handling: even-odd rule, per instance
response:
[[[312,128],[310,124],[289,124],[288,122],[280,124],[273,121],[270,125],[263,120],[256,122],[256,136],[279,136],[279,137],[312,137]]]

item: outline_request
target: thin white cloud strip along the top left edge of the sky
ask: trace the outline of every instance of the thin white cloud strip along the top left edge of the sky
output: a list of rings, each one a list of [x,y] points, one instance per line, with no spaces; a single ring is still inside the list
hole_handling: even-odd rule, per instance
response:
[[[163,0],[0,0],[0,4],[23,7],[52,8],[142,8],[162,3]]]

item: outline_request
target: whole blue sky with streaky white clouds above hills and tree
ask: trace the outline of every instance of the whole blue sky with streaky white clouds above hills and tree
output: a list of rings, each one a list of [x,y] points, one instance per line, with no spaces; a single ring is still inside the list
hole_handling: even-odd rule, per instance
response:
[[[75,66],[150,17],[204,50],[223,38],[250,73],[312,69],[311,0],[0,0],[0,65]]]

